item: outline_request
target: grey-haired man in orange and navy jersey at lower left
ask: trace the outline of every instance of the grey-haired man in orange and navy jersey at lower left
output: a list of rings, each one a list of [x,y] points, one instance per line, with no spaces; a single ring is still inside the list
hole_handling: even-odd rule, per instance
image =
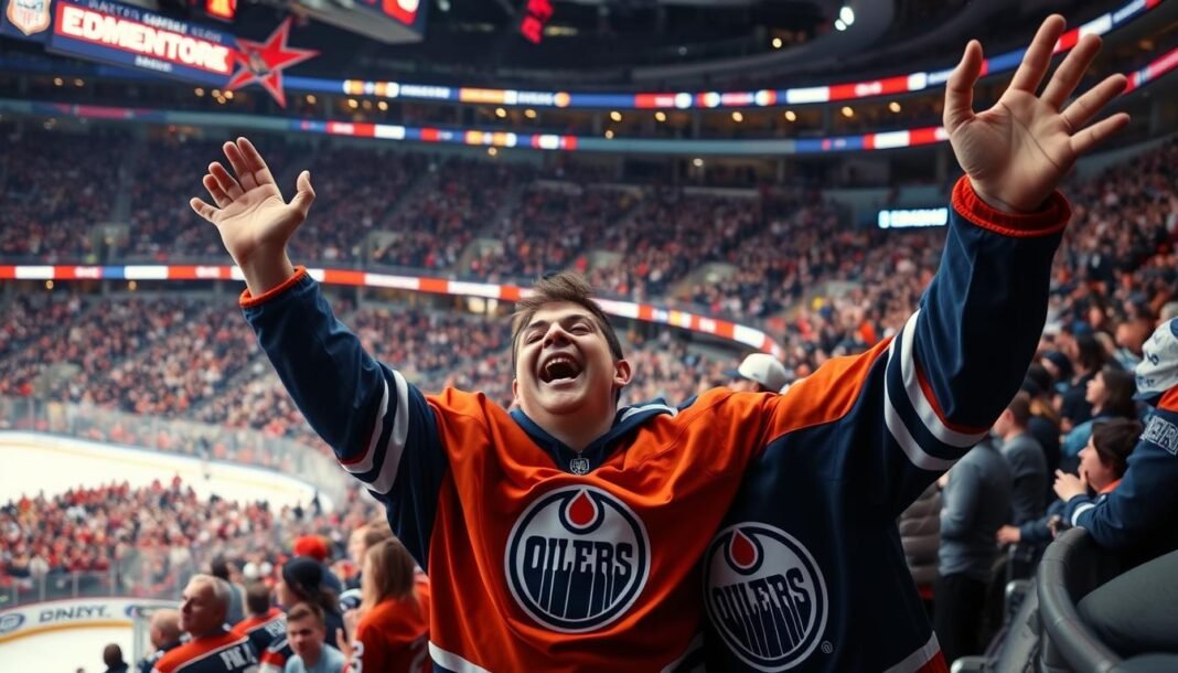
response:
[[[196,575],[184,588],[180,629],[188,642],[155,662],[152,673],[252,673],[258,656],[250,639],[225,628],[229,582],[212,575]]]

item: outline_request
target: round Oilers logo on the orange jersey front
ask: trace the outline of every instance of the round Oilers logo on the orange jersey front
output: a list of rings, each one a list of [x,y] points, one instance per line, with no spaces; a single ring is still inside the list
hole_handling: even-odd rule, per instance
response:
[[[650,540],[624,502],[590,486],[545,494],[516,521],[505,570],[537,622],[584,633],[622,616],[650,574]]]

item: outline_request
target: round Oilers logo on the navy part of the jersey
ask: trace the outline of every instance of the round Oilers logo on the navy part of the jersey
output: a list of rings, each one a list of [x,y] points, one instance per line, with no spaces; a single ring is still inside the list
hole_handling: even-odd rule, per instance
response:
[[[757,671],[802,662],[826,629],[826,582],[810,553],[763,523],[720,532],[704,556],[708,619],[728,649]]]

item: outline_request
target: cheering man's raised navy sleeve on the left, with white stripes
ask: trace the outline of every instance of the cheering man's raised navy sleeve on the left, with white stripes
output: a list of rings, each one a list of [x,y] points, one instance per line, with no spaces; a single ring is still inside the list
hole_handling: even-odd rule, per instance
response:
[[[311,428],[385,504],[393,533],[428,567],[448,468],[432,408],[399,372],[364,350],[305,270],[263,297],[243,299],[243,308]]]

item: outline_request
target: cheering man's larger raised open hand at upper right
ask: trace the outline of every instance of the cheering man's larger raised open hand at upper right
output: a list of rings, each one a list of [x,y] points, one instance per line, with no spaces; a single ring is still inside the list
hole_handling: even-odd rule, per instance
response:
[[[1100,51],[1100,38],[1085,35],[1064,59],[1041,95],[1035,95],[1064,33],[1060,15],[1048,17],[1023,57],[1006,92],[990,110],[974,114],[973,85],[981,74],[981,45],[971,40],[945,88],[945,128],[958,163],[974,192],[991,206],[1011,212],[1038,210],[1077,157],[1129,123],[1125,113],[1091,126],[1125,88],[1124,75],[1106,78],[1066,108],[1084,72]]]

